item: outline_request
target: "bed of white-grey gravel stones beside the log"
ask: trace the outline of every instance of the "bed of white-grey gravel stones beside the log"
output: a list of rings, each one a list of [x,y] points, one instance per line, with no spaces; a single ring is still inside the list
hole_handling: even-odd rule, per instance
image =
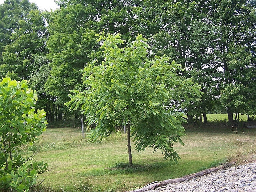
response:
[[[256,163],[219,170],[148,192],[256,192]]]

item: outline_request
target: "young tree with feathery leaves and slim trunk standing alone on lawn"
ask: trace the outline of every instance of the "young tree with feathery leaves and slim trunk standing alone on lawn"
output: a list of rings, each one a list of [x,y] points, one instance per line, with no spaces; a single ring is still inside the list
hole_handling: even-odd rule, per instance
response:
[[[129,163],[132,165],[130,136],[134,136],[136,150],[152,147],[160,149],[164,158],[177,161],[174,142],[182,143],[184,135],[181,114],[174,106],[177,92],[200,95],[200,86],[178,76],[180,64],[168,62],[168,57],[147,58],[148,44],[142,35],[124,44],[120,34],[99,35],[104,61],[97,60],[83,70],[86,90],[73,90],[66,103],[72,110],[82,109],[88,125],[96,124],[92,139],[111,134],[116,126],[126,125]],[[166,105],[168,104],[168,106]],[[168,108],[168,109],[167,109]]]

